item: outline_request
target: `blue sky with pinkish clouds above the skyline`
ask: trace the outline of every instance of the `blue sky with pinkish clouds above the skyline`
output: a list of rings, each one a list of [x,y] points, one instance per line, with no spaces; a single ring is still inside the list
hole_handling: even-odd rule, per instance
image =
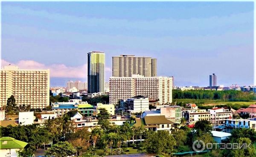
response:
[[[253,2],[2,2],[2,65],[87,80],[87,52],[156,57],[178,86],[253,84]]]

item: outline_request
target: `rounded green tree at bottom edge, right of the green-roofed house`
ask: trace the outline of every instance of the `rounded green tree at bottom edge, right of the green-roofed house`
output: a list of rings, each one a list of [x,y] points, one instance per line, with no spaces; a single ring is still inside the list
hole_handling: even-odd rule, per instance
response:
[[[58,142],[46,151],[46,155],[55,157],[67,157],[74,154],[76,154],[76,149],[68,142]]]

